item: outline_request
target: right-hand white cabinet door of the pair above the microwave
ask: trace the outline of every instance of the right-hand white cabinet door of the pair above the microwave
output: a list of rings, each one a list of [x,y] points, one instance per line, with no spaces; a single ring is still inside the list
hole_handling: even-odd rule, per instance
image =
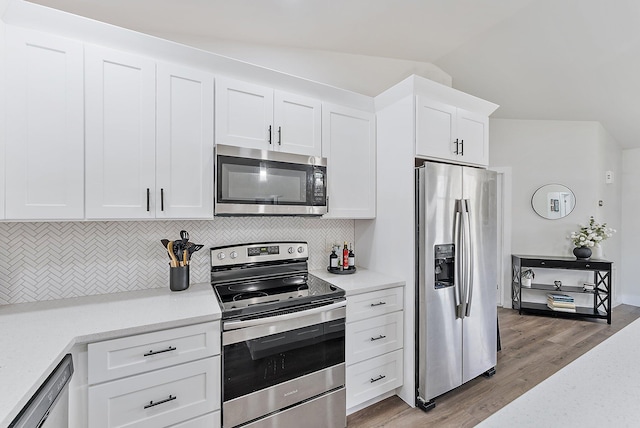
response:
[[[276,91],[274,102],[274,149],[287,153],[321,156],[320,101]]]

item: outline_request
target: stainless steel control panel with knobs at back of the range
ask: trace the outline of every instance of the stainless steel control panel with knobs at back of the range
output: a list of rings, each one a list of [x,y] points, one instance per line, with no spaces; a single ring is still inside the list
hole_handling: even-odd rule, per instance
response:
[[[261,242],[212,247],[211,267],[278,260],[307,260],[306,242]]]

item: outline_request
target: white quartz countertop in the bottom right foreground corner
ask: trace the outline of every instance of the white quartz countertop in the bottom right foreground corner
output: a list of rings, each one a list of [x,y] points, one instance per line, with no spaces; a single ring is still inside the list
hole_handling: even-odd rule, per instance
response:
[[[637,427],[640,320],[485,419],[481,427]],[[532,368],[535,370],[535,368]]]

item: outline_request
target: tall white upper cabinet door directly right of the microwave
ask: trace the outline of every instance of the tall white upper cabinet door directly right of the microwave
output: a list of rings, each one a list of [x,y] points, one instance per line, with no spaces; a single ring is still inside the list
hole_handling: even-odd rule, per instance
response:
[[[328,163],[329,194],[325,218],[374,218],[375,115],[324,104],[322,116],[322,155]]]

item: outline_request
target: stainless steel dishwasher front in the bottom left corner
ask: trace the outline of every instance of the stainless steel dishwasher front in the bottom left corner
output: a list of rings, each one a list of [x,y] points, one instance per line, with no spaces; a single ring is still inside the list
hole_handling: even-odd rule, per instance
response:
[[[71,354],[42,383],[9,428],[67,428],[69,426],[69,381],[73,375]]]

